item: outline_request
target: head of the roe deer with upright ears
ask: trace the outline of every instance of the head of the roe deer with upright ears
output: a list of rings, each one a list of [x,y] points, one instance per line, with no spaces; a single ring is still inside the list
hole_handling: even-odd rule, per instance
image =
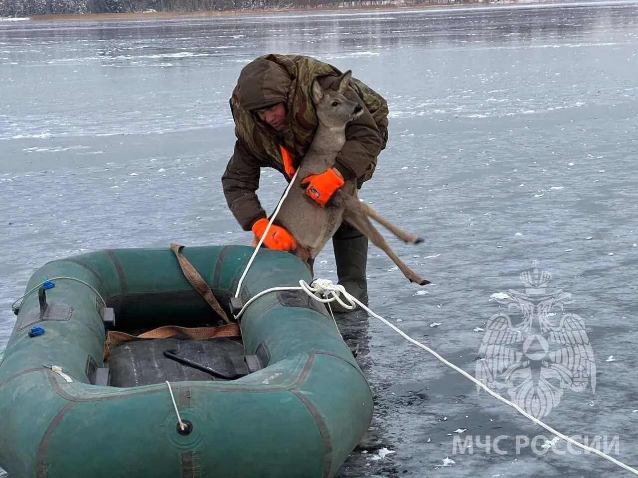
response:
[[[343,96],[352,78],[352,71],[348,70],[339,76],[337,91],[323,90],[317,80],[313,80],[311,94],[315,101],[317,119],[329,128],[344,128],[350,121],[357,119],[363,108],[356,101]]]

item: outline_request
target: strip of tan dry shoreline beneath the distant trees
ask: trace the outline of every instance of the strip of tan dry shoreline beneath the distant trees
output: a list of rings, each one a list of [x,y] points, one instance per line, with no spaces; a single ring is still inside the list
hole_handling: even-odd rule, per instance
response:
[[[179,19],[179,18],[217,18],[235,17],[243,15],[276,15],[282,13],[339,13],[343,11],[359,10],[422,10],[425,8],[454,8],[456,6],[494,6],[503,4],[530,4],[530,3],[561,3],[560,0],[503,0],[503,1],[456,1],[454,3],[404,3],[385,5],[361,5],[361,6],[320,6],[313,8],[272,8],[268,10],[211,10],[211,11],[146,11],[146,12],[126,12],[126,13],[71,13],[71,14],[50,14],[33,15],[24,18],[33,21],[105,21],[105,20],[157,20],[157,19]]]

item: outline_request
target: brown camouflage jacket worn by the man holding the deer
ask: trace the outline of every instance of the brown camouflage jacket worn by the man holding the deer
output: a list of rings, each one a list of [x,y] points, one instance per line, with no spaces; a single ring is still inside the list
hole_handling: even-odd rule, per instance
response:
[[[249,231],[266,217],[255,191],[260,168],[271,167],[285,175],[279,144],[295,159],[295,167],[315,135],[317,119],[310,87],[317,78],[324,89],[336,89],[341,75],[334,66],[302,55],[269,54],[246,65],[230,98],[235,121],[235,150],[221,178],[226,202],[242,229]],[[335,167],[346,179],[360,185],[372,177],[377,156],[388,138],[388,106],[380,94],[353,78],[346,98],[364,106],[364,114],[346,127],[346,143]],[[286,103],[286,127],[275,131],[253,110]]]

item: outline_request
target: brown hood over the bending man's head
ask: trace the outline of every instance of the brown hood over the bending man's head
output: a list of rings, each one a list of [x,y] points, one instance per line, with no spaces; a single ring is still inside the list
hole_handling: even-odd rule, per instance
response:
[[[237,80],[237,98],[246,110],[260,110],[288,103],[292,80],[285,69],[267,59],[251,61]]]

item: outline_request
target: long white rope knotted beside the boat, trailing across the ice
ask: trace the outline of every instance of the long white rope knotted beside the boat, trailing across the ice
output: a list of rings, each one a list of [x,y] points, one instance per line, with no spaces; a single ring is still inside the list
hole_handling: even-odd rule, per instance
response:
[[[248,264],[246,264],[246,269],[244,269],[244,273],[242,274],[241,279],[239,280],[239,284],[237,284],[237,291],[235,293],[235,297],[239,297],[239,291],[241,290],[241,285],[242,285],[242,282],[243,282],[244,278],[246,277],[246,273],[248,273],[248,270],[249,270],[251,264],[253,263],[253,260],[255,259],[259,248],[262,245],[263,238],[265,238],[266,233],[268,232],[268,229],[271,227],[272,222],[276,218],[276,216],[277,216],[277,214],[279,212],[279,209],[281,208],[281,205],[283,204],[284,199],[286,198],[286,196],[288,196],[288,191],[290,191],[290,188],[292,187],[292,184],[293,184],[293,182],[295,180],[296,175],[297,175],[297,173],[295,173],[295,176],[293,176],[292,180],[288,184],[288,187],[286,187],[286,191],[281,196],[281,199],[279,199],[279,204],[277,205],[277,208],[275,209],[274,213],[271,216],[271,219],[268,222],[268,226],[267,226],[267,228],[265,230],[265,233],[262,235],[262,238],[260,239],[258,244],[255,246],[255,251],[253,252],[253,255],[251,256],[251,258],[249,259]],[[541,426],[542,428],[545,428],[545,430],[547,430],[547,431],[549,431],[551,433],[554,433],[554,435],[556,435],[557,437],[562,438],[563,440],[569,442],[570,444],[575,445],[575,446],[577,446],[579,448],[582,448],[585,451],[588,451],[590,453],[595,453],[598,456],[602,456],[602,458],[605,458],[605,460],[609,460],[612,463],[614,463],[615,465],[618,465],[619,467],[624,468],[628,472],[631,472],[632,474],[638,476],[638,470],[636,470],[635,468],[632,468],[632,467],[630,467],[628,465],[625,465],[625,463],[616,460],[616,458],[613,458],[612,456],[609,456],[608,454],[603,453],[602,451],[599,451],[599,450],[597,450],[597,449],[595,449],[593,447],[590,447],[588,445],[584,445],[582,443],[579,443],[579,442],[575,441],[573,438],[570,438],[567,435],[564,435],[563,433],[560,433],[560,431],[554,430],[554,428],[552,428],[551,426],[543,423],[542,421],[540,421],[536,417],[531,416],[530,414],[528,414],[528,412],[526,412],[525,410],[521,409],[521,407],[516,405],[516,403],[512,403],[509,400],[507,400],[506,398],[503,398],[501,395],[498,395],[498,393],[496,393],[493,390],[489,389],[489,387],[487,387],[484,383],[482,383],[479,380],[477,380],[474,377],[472,377],[469,373],[465,372],[465,370],[457,367],[453,363],[450,363],[449,361],[447,361],[446,359],[441,357],[439,354],[434,352],[432,349],[430,349],[426,345],[421,344],[418,340],[413,339],[412,337],[410,337],[409,335],[404,333],[402,330],[400,330],[399,328],[397,328],[393,324],[390,324],[390,322],[385,320],[380,315],[375,314],[375,312],[370,310],[366,305],[361,303],[357,298],[355,298],[351,294],[349,294],[345,290],[345,288],[343,286],[340,286],[339,284],[333,284],[331,280],[315,279],[315,280],[313,280],[313,283],[311,285],[309,285],[308,282],[306,282],[305,280],[300,280],[299,281],[299,286],[293,286],[293,287],[271,287],[271,289],[266,289],[265,291],[262,291],[262,292],[256,294],[254,297],[252,297],[250,300],[248,300],[246,302],[246,304],[244,304],[244,306],[241,308],[239,313],[235,316],[235,319],[239,320],[239,317],[244,313],[246,308],[251,303],[253,303],[253,301],[255,301],[257,298],[259,298],[259,297],[261,297],[261,296],[263,296],[265,294],[269,294],[269,293],[274,292],[274,291],[299,291],[299,290],[306,292],[306,294],[308,294],[308,296],[310,296],[311,298],[313,298],[316,301],[319,301],[319,302],[322,302],[322,303],[326,303],[328,308],[329,308],[329,310],[330,310],[330,315],[332,315],[332,320],[333,321],[334,321],[334,314],[332,314],[332,308],[330,308],[330,303],[331,302],[337,301],[341,306],[343,306],[347,310],[353,310],[355,307],[357,307],[357,305],[359,305],[359,307],[361,307],[363,310],[365,310],[369,315],[371,315],[371,317],[375,317],[376,319],[382,321],[384,324],[389,326],[392,330],[394,330],[397,333],[399,333],[399,335],[401,335],[401,337],[403,337],[406,340],[408,340],[408,342],[411,342],[412,344],[417,345],[417,347],[420,347],[421,349],[424,349],[425,351],[429,352],[435,358],[440,360],[442,363],[444,363],[445,365],[449,366],[450,368],[453,368],[457,372],[461,373],[461,375],[463,375],[467,379],[469,379],[472,382],[474,382],[477,386],[479,386],[482,389],[484,389],[487,393],[489,393],[489,395],[491,395],[494,398],[496,398],[497,400],[500,400],[501,402],[509,405],[510,407],[513,407],[514,409],[517,410],[517,412],[521,413],[523,416],[527,417],[528,419],[530,419],[531,421],[533,421],[537,425]],[[344,301],[344,299],[345,299],[345,301]],[[335,321],[335,324],[336,324],[336,321]]]

